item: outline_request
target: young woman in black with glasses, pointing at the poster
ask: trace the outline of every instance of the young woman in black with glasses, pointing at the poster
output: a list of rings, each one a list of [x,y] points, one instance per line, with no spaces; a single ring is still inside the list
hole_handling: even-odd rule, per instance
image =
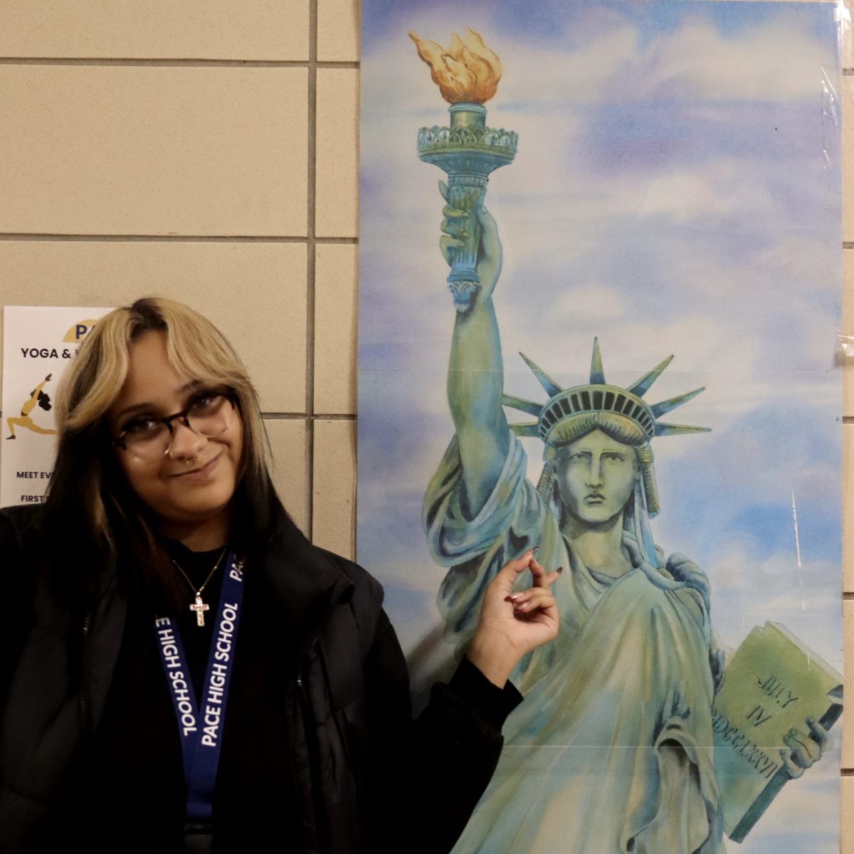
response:
[[[206,319],[108,314],[57,427],[44,506],[0,512],[0,850],[449,849],[518,703],[507,676],[556,633],[557,574],[506,565],[412,724],[382,589],[284,512]]]

